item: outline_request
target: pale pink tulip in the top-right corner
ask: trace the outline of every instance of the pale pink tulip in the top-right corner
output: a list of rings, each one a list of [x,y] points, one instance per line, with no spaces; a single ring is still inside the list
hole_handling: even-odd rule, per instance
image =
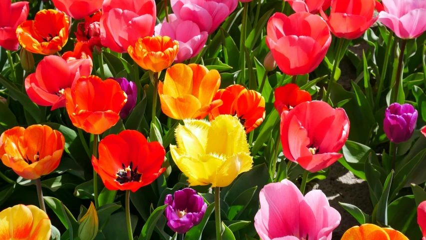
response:
[[[416,38],[426,30],[426,0],[382,0],[379,20],[400,38]]]

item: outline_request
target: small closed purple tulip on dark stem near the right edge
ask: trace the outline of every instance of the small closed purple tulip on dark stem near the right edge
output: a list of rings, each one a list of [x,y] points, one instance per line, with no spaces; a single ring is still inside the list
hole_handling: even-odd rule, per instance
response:
[[[392,103],[386,108],[383,122],[386,136],[395,143],[410,139],[416,128],[417,115],[417,110],[410,104]]]

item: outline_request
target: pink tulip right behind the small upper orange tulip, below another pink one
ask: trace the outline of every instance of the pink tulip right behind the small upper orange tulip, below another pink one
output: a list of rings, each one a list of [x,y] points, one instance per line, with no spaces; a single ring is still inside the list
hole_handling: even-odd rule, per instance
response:
[[[170,17],[169,17],[170,19]],[[173,19],[155,26],[155,35],[169,36],[179,42],[179,51],[174,61],[182,62],[196,56],[203,49],[208,33],[200,31],[196,23],[190,20]]]

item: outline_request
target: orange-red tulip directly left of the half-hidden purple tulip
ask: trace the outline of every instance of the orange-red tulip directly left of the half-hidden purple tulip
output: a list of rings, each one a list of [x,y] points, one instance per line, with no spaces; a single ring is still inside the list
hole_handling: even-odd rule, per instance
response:
[[[118,82],[113,79],[102,81],[94,75],[80,77],[74,89],[67,88],[64,94],[72,124],[92,134],[101,134],[115,125],[127,101]]]

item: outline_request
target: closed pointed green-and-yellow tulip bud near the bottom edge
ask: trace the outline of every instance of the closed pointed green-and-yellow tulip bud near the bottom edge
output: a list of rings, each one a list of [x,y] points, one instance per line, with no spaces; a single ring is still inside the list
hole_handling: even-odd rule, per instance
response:
[[[93,205],[93,202],[90,202],[90,207],[86,214],[81,217],[80,225],[78,226],[78,236],[80,239],[95,239],[98,231],[98,224],[96,208]]]

